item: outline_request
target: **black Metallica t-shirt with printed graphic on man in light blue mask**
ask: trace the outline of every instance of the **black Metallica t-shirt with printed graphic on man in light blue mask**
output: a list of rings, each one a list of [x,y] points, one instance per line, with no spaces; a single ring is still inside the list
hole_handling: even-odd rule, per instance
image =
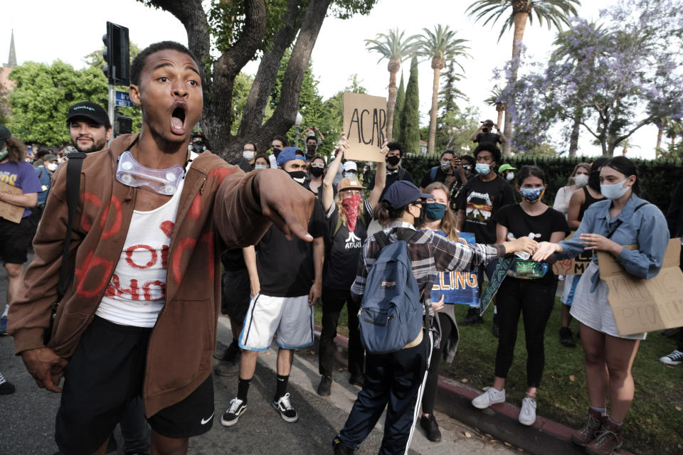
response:
[[[462,187],[457,203],[457,208],[465,210],[462,231],[472,232],[477,243],[495,243],[493,215],[509,204],[514,204],[514,191],[503,178],[496,176],[491,181],[482,181],[479,176],[470,178]]]

